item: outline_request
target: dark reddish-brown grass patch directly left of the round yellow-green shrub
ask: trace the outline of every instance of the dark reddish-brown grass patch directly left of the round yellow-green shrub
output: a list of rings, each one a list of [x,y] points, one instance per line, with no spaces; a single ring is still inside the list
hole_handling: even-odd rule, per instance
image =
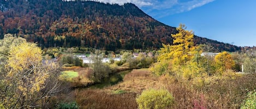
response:
[[[134,109],[138,107],[135,101],[135,93],[108,94],[96,89],[85,89],[82,91],[76,90],[75,98],[79,108]]]

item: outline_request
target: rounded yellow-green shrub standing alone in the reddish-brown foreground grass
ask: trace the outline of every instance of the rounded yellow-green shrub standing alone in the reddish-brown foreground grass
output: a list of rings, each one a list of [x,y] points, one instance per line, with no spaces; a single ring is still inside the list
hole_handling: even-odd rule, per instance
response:
[[[174,97],[166,89],[147,89],[136,98],[139,108],[170,108]]]

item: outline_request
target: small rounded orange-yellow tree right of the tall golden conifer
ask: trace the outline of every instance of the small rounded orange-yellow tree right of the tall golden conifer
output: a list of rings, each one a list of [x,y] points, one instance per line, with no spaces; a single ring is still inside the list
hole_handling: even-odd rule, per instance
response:
[[[235,66],[233,57],[228,52],[222,52],[215,56],[216,69],[218,73],[223,73],[227,69]]]

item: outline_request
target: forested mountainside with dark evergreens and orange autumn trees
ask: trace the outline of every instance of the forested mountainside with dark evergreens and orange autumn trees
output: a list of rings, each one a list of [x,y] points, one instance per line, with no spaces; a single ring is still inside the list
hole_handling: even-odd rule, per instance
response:
[[[175,21],[173,21],[175,22]],[[172,44],[170,27],[154,20],[134,4],[93,1],[0,1],[0,39],[21,36],[40,47],[96,47],[104,50],[157,49]],[[234,52],[240,47],[195,36],[195,44],[210,43]]]

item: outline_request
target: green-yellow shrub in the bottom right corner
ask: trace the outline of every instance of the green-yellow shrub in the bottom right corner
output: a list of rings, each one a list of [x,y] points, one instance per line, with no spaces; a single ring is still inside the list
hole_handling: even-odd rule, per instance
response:
[[[241,106],[241,109],[256,108],[256,92],[249,92],[245,104]]]

